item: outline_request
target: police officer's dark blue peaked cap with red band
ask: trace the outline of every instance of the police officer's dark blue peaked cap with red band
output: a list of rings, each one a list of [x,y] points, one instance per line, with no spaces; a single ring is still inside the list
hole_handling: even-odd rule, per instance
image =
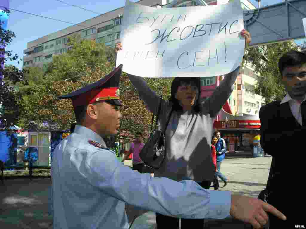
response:
[[[68,95],[59,96],[58,98],[71,99],[73,107],[85,106],[98,101],[121,106],[122,104],[119,100],[119,80],[121,72],[122,64],[99,81],[73,91]]]

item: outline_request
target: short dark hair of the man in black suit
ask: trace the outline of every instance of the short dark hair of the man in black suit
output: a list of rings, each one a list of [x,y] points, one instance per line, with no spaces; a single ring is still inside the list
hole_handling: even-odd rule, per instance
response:
[[[306,63],[306,54],[291,50],[284,55],[282,55],[281,58],[278,60],[278,70],[281,73],[281,76],[283,74],[283,71],[286,67],[293,67],[298,66]]]

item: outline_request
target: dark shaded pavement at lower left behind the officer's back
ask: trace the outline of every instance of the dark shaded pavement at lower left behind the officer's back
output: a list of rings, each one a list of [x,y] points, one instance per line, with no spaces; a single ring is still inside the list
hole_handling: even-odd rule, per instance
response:
[[[1,228],[52,228],[48,216],[50,178],[5,180],[0,188]]]

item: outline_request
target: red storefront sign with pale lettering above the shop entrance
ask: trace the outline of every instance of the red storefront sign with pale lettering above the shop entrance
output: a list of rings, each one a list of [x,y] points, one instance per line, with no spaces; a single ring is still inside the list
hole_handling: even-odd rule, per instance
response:
[[[259,129],[260,120],[232,120],[232,121],[215,121],[214,128],[246,128],[246,129]]]

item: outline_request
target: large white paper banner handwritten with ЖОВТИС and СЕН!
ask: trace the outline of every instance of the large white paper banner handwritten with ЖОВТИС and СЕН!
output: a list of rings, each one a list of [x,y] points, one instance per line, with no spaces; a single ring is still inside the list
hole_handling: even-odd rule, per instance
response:
[[[239,0],[162,9],[127,0],[116,65],[142,77],[225,75],[241,64],[242,29]]]

